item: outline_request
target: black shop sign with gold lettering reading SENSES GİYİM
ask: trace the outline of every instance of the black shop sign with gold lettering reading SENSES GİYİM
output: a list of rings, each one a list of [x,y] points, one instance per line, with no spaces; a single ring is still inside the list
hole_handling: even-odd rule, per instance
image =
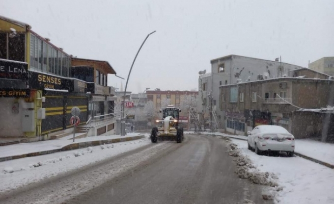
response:
[[[30,71],[29,85],[35,89],[68,89],[67,79],[53,75]]]

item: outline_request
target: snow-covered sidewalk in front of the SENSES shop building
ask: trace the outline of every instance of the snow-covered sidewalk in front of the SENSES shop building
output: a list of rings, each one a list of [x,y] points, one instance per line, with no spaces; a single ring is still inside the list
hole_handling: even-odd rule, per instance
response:
[[[100,144],[125,142],[144,138],[144,134],[131,133],[127,136],[110,135],[97,136],[75,139],[73,143],[69,140],[73,136],[66,136],[64,138],[38,141],[30,143],[20,143],[0,147],[0,162],[20,159],[24,157],[34,157],[39,155],[51,154],[58,151],[65,151],[71,149],[84,148],[88,146],[96,146]]]

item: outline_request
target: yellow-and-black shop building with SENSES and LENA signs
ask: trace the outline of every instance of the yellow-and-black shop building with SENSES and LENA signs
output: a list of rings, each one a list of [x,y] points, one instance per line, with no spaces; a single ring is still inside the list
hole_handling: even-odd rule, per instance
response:
[[[85,124],[94,114],[89,101],[95,95],[105,100],[113,94],[106,83],[102,89],[108,91],[99,92],[96,75],[93,80],[83,79],[76,74],[78,67],[72,75],[72,57],[29,24],[0,16],[0,28],[0,137],[37,137],[66,130],[71,127],[73,107],[81,110],[80,122]],[[80,68],[87,65],[76,62]],[[116,73],[111,66],[105,69],[104,74]]]

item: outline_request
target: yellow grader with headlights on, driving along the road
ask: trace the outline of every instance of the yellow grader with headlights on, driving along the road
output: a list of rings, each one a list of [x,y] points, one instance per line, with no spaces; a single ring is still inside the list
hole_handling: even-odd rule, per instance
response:
[[[183,141],[183,127],[179,126],[179,113],[181,109],[169,105],[162,108],[162,119],[156,120],[157,126],[152,128],[151,141],[156,143],[158,140],[171,140],[181,143]]]

